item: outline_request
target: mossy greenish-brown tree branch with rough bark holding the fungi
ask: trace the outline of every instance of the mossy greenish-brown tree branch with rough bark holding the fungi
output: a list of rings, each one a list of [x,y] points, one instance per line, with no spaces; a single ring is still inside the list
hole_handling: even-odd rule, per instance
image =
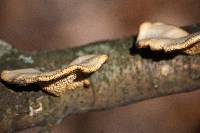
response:
[[[186,27],[190,32],[199,25]],[[89,88],[67,91],[54,97],[37,86],[20,87],[0,82],[0,129],[16,131],[51,126],[70,114],[108,109],[200,88],[200,55],[164,54],[135,49],[135,37],[92,43],[86,46],[42,52],[23,52],[0,44],[0,72],[34,67],[53,70],[74,58],[104,53],[107,63],[91,77]]]

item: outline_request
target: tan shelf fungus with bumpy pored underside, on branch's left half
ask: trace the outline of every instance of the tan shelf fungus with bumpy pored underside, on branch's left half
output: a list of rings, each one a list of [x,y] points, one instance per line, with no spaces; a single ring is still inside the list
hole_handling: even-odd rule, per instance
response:
[[[66,90],[90,85],[87,79],[107,60],[107,55],[85,55],[72,61],[67,67],[41,72],[33,68],[4,70],[1,79],[22,86],[39,84],[41,89],[55,96],[61,96]]]

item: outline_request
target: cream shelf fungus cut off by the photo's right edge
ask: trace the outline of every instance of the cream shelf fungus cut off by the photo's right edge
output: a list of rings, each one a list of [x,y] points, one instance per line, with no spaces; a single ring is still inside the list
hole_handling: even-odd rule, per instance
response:
[[[137,47],[150,47],[153,51],[200,54],[200,32],[189,34],[173,25],[144,22],[139,28]]]

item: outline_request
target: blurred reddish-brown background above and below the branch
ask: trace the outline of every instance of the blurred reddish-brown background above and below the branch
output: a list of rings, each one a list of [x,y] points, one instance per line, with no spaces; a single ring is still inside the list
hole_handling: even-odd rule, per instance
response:
[[[31,51],[133,35],[144,21],[178,26],[199,23],[200,1],[0,1],[0,38],[14,47]],[[200,91],[195,91],[73,115],[55,126],[53,133],[199,133],[199,102]]]

